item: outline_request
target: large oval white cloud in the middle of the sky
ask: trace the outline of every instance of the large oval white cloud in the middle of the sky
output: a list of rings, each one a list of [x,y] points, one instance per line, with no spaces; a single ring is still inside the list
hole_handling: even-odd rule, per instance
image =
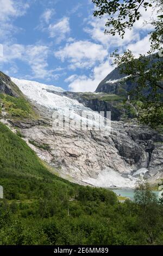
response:
[[[66,44],[54,55],[62,62],[68,60],[70,69],[91,68],[97,62],[103,62],[108,51],[102,45],[90,41],[77,41]]]

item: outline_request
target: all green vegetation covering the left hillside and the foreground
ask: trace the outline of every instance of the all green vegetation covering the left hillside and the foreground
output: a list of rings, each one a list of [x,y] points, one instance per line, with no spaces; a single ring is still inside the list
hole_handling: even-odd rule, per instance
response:
[[[112,191],[72,184],[50,173],[26,142],[2,123],[0,184],[5,197],[0,199],[1,245],[163,243],[162,205],[149,204],[145,223],[141,205],[118,203]]]

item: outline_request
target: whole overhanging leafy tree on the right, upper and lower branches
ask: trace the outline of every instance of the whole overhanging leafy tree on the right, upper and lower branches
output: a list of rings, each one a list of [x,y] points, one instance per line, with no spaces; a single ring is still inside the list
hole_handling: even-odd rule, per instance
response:
[[[137,86],[129,92],[132,104],[138,112],[141,123],[156,127],[163,124],[163,63],[162,63],[162,44],[163,44],[163,1],[143,1],[143,0],[92,0],[97,10],[93,15],[96,17],[108,17],[105,23],[105,34],[115,35],[118,33],[122,38],[127,29],[131,29],[134,23],[142,16],[142,11],[149,8],[159,7],[156,19],[151,19],[151,27],[154,29],[149,32],[151,49],[146,56],[140,54],[135,59],[131,51],[118,54],[117,50],[111,54],[114,57],[113,64],[118,66],[122,74],[129,76],[130,80],[136,81]],[[155,53],[157,51],[158,53]],[[153,54],[154,53],[154,54]],[[141,104],[140,104],[141,101]]]

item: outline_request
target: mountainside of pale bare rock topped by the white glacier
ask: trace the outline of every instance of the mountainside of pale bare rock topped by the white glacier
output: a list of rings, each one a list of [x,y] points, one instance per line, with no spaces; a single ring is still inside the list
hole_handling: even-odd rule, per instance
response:
[[[32,81],[12,78],[12,82],[17,84],[13,88],[18,87],[25,96],[2,93],[0,121],[20,134],[62,178],[103,187],[134,187],[139,178],[137,170],[150,182],[162,177],[163,138],[158,132],[123,121],[111,121],[111,131],[105,131],[105,119],[77,99],[66,96],[71,93]],[[28,108],[23,109],[24,103],[17,103],[20,100],[28,103]],[[60,121],[63,115],[64,120],[69,117],[69,109],[70,129],[55,126],[55,121]],[[99,117],[101,130],[96,122]],[[83,130],[80,126],[74,129],[80,121],[85,127],[93,125],[94,129]]]

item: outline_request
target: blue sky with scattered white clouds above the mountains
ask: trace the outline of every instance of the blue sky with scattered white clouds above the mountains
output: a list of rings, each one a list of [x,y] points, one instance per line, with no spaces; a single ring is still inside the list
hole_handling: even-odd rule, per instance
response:
[[[127,48],[135,56],[149,49],[143,17],[124,40],[104,35],[105,17],[93,17],[91,0],[0,0],[0,70],[9,76],[93,92],[113,69],[110,53]]]

